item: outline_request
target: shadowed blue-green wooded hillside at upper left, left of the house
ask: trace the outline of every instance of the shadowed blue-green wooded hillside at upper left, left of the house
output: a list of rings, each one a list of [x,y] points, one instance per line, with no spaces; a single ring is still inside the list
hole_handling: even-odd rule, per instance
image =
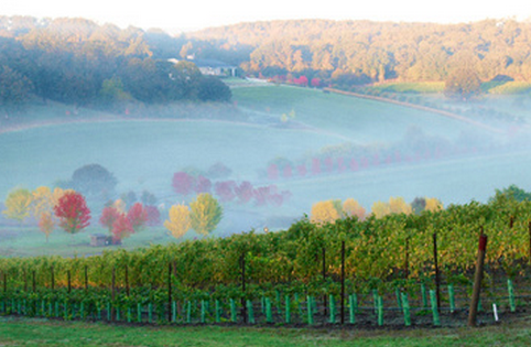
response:
[[[0,17],[0,106],[229,100],[228,87],[178,58],[183,37],[84,19]]]

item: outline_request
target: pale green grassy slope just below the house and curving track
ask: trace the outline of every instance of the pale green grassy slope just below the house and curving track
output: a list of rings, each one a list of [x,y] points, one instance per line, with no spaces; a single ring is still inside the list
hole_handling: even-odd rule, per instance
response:
[[[472,130],[468,124],[430,112],[317,89],[264,86],[237,88],[232,95],[239,106],[277,117],[294,110],[295,121],[356,143],[397,141],[412,127],[448,138]]]

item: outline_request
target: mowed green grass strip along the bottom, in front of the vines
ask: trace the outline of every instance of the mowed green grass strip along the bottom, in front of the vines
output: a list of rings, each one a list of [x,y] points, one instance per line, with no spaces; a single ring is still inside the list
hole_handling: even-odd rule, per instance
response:
[[[481,328],[342,330],[0,318],[0,346],[525,346],[530,338],[529,322]]]

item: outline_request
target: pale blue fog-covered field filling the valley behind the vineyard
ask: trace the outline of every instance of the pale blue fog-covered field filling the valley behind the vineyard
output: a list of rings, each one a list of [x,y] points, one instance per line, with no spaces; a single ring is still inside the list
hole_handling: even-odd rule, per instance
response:
[[[104,199],[130,192],[137,199],[152,193],[161,219],[167,218],[171,205],[194,197],[172,188],[176,172],[206,176],[213,194],[216,183],[227,181],[274,186],[274,202],[242,204],[217,196],[224,219],[215,235],[221,236],[286,228],[319,200],[354,198],[368,212],[391,196],[407,202],[436,197],[447,206],[486,202],[496,188],[511,184],[531,185],[524,113],[519,127],[499,120],[478,127],[422,109],[308,88],[268,85],[232,93],[237,121],[101,116],[4,131],[0,196],[4,200],[14,187],[64,186],[77,169],[99,164],[117,180],[111,195],[89,199],[90,228],[99,228]],[[209,176],[219,163],[230,172]]]

